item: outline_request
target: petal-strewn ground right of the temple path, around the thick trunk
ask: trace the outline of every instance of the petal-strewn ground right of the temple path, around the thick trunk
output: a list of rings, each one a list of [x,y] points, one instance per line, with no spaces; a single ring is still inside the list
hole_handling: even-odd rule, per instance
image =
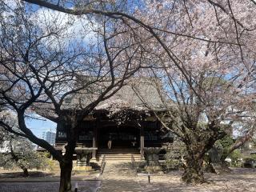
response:
[[[138,183],[146,192],[255,192],[256,171],[250,169],[236,169],[231,174],[205,174],[210,182],[202,185],[186,185],[181,181],[182,172],[151,177],[151,183],[144,176],[138,177]]]

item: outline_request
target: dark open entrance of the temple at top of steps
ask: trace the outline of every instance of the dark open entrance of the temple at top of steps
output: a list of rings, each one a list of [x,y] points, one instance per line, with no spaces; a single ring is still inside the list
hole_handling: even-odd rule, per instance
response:
[[[138,149],[140,130],[132,126],[106,126],[98,130],[98,148],[108,149]]]

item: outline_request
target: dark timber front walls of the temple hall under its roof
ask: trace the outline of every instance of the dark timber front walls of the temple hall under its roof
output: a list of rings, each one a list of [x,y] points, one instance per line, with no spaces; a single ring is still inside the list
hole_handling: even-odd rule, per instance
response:
[[[91,118],[91,117],[90,117]],[[145,120],[143,122],[127,122],[118,125],[118,122],[94,119],[85,120],[78,126],[80,134],[77,138],[78,146],[97,148],[97,150],[138,150],[143,154],[144,147],[161,147],[162,138],[160,123]],[[56,145],[66,143],[65,127],[58,126]],[[96,158],[97,150],[93,151],[92,158]]]

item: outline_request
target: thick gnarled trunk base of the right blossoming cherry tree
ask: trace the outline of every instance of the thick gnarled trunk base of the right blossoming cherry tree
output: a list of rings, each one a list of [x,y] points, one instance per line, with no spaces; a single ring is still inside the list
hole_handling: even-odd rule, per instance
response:
[[[182,174],[182,180],[187,183],[206,182],[202,172],[202,155],[194,154],[191,151],[186,155],[186,167]]]

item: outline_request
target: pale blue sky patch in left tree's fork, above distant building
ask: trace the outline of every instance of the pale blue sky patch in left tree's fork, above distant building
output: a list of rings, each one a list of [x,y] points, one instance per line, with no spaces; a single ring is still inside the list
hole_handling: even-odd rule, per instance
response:
[[[34,118],[26,119],[26,126],[32,130],[32,132],[38,137],[42,138],[42,133],[47,130],[56,132],[56,123],[51,122],[46,118],[43,120],[38,120]]]

